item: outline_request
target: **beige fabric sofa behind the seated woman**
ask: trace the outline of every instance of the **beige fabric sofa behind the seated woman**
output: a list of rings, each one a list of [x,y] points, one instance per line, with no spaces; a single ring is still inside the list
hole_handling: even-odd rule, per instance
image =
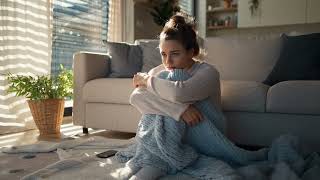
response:
[[[280,52],[280,38],[207,38],[207,62],[220,72],[227,136],[238,144],[269,145],[284,133],[320,150],[320,81],[262,84]],[[74,55],[74,124],[135,132],[141,114],[129,105],[130,78],[106,78],[109,56]],[[86,130],[86,129],[85,129]]]

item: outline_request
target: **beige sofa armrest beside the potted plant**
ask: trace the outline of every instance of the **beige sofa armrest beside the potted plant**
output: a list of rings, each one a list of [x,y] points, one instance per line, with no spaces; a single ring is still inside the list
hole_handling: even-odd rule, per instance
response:
[[[103,53],[77,52],[73,56],[74,100],[73,122],[86,126],[85,102],[82,100],[83,87],[86,82],[106,77],[109,73],[110,56]]]

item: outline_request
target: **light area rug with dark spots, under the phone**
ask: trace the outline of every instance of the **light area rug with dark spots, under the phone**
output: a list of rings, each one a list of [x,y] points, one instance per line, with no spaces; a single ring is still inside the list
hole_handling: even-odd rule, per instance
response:
[[[119,163],[114,157],[101,159],[95,155],[108,149],[121,150],[132,143],[134,138],[123,140],[94,136],[62,143],[43,141],[16,148],[2,148],[1,151],[9,151],[10,154],[0,153],[0,179],[119,179],[125,164]],[[37,153],[39,151],[42,153]],[[24,159],[26,155],[36,157]],[[182,173],[162,179],[193,180]]]

